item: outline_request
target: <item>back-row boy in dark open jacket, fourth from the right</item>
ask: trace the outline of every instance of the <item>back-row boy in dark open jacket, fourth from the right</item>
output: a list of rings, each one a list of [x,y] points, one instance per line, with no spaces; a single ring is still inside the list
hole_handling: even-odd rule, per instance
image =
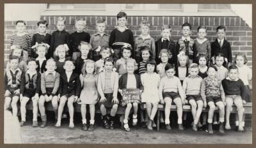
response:
[[[167,49],[168,51],[168,63],[175,64],[177,63],[177,52],[175,50],[175,43],[171,40],[171,26],[164,25],[162,26],[161,38],[156,41],[156,63],[161,63],[160,52],[162,49]]]

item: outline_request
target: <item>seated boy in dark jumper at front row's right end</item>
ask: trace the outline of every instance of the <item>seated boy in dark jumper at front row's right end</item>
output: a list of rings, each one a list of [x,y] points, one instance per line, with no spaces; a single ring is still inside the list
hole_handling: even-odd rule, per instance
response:
[[[225,129],[231,129],[229,124],[229,117],[230,117],[230,111],[234,104],[237,107],[237,114],[238,114],[238,131],[244,131],[243,128],[243,112],[244,107],[243,103],[245,103],[245,86],[241,79],[238,78],[238,68],[237,66],[229,66],[228,68],[228,77],[222,80],[223,89],[226,96],[226,125]]]

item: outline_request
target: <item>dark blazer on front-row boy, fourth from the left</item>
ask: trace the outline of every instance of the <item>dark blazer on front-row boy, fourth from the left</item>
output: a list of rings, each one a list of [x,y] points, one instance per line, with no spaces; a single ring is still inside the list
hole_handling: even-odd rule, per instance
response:
[[[65,94],[67,96],[79,96],[81,92],[81,82],[79,80],[79,75],[72,72],[70,76],[70,80],[67,80],[67,74],[61,73],[60,75],[60,87],[59,87],[59,93],[61,96],[64,96]]]

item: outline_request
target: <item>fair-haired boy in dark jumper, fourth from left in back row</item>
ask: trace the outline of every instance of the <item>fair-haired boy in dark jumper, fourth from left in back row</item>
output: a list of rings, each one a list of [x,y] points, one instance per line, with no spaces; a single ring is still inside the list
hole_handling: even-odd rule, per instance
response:
[[[76,32],[70,34],[70,50],[68,50],[68,56],[72,57],[73,60],[81,56],[78,48],[81,41],[90,42],[90,34],[83,31],[86,26],[84,18],[77,18],[75,26]]]

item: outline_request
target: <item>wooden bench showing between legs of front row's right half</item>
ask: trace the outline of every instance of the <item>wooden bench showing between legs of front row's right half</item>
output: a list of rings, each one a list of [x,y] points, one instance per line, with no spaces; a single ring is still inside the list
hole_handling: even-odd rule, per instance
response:
[[[244,106],[244,114],[252,114],[252,103],[246,103]],[[145,103],[141,103],[141,108],[143,110],[146,110],[147,105]],[[183,105],[183,112],[191,112],[191,106],[190,105]],[[164,105],[159,104],[157,109],[157,131],[159,131],[159,124],[160,124],[160,111],[164,111]],[[171,111],[177,111],[176,105],[171,106]],[[203,108],[202,112],[208,112],[209,107]],[[214,112],[218,112],[218,107],[215,108]],[[236,113],[236,106],[233,105],[231,108],[231,113]]]

